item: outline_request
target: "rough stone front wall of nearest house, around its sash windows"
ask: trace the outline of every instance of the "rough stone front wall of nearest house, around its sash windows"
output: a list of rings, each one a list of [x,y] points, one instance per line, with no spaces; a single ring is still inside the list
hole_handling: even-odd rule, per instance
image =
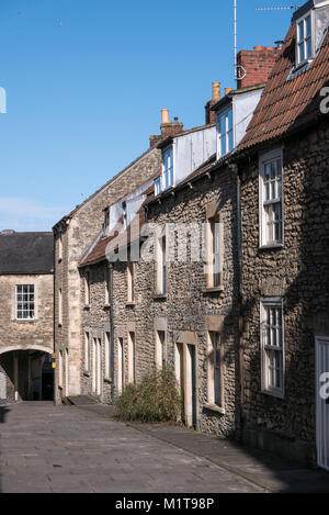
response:
[[[280,146],[280,143],[279,143]],[[264,149],[264,152],[271,148]],[[239,165],[245,312],[245,436],[315,462],[315,338],[329,335],[329,130],[284,145],[284,246],[259,248],[259,164]],[[285,396],[261,391],[260,299],[283,296]]]

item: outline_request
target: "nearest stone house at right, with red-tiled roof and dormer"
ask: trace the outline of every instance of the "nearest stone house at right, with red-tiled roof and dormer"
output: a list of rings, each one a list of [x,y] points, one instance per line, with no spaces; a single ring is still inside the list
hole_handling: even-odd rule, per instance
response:
[[[296,11],[234,159],[241,187],[243,436],[327,469],[328,26],[328,1]]]

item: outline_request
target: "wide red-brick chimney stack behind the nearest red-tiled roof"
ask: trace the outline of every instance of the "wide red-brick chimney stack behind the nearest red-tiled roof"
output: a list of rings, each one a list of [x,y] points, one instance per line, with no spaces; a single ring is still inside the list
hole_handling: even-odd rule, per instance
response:
[[[259,86],[268,82],[280,48],[274,46],[254,46],[252,51],[241,51],[237,63],[240,79],[238,89]]]

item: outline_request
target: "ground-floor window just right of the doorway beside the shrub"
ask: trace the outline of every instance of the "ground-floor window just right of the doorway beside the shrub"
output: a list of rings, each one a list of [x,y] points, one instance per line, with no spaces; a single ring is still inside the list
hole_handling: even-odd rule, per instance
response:
[[[208,403],[224,408],[224,356],[220,334],[208,333]]]

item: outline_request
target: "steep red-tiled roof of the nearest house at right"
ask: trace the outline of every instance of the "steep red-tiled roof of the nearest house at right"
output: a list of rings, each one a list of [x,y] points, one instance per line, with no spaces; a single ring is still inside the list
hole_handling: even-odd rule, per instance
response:
[[[302,130],[321,117],[319,91],[329,80],[329,32],[310,66],[292,75],[295,42],[293,24],[237,153]]]

